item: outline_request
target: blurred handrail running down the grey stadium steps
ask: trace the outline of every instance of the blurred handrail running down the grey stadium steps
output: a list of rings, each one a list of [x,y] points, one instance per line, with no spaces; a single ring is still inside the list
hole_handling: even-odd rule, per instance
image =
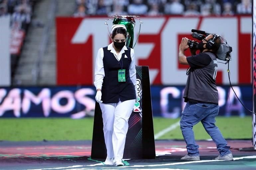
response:
[[[38,51],[38,57],[36,59],[35,62],[35,66],[34,69],[32,70],[32,79],[33,79],[33,83],[35,85],[38,84],[38,80],[39,80],[39,76],[40,76],[40,70],[41,70],[41,61],[42,58],[45,54],[48,42],[49,42],[49,37],[50,37],[50,29],[52,28],[54,21],[55,21],[55,14],[57,11],[57,0],[52,0],[51,1],[51,7],[48,13],[48,17],[47,17],[47,23],[46,26],[44,28],[43,31],[43,37],[42,37],[42,42],[40,44],[40,48]]]

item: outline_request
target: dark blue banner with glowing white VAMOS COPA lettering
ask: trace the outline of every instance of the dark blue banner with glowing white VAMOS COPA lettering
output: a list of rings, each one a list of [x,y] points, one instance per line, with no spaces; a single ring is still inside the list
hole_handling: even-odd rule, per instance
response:
[[[153,116],[178,118],[186,103],[185,86],[151,86]],[[218,86],[219,115],[251,115],[230,86]],[[252,110],[251,85],[233,86],[242,103]],[[94,86],[0,88],[0,117],[70,117],[94,115]]]

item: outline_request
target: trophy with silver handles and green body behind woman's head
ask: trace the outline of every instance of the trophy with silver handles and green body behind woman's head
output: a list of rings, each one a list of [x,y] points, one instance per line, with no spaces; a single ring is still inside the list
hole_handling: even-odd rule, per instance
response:
[[[138,41],[139,35],[140,35],[140,29],[139,29],[139,34],[138,34],[137,40],[136,40],[136,42],[133,45],[133,41],[134,41],[134,27],[135,27],[135,19],[134,18],[137,18],[140,21],[139,16],[111,15],[109,17],[114,17],[114,19],[108,19],[108,20],[113,20],[113,25],[116,25],[116,24],[123,24],[123,25],[125,25],[125,27],[127,29],[126,46],[128,46],[130,48],[134,48],[134,46],[136,45],[136,42]],[[141,24],[142,23],[143,22],[140,21],[140,28],[141,28]],[[107,24],[107,20],[106,20],[105,24],[107,25],[109,37],[111,38],[111,35],[110,35],[110,32],[109,32],[109,28],[108,28],[108,24]]]

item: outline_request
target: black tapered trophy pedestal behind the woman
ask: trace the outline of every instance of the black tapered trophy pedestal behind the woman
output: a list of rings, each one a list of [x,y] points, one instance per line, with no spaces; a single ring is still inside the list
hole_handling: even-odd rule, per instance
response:
[[[124,159],[155,159],[155,140],[148,66],[136,66],[137,93],[140,100],[129,118]],[[91,158],[106,158],[102,113],[95,104]]]

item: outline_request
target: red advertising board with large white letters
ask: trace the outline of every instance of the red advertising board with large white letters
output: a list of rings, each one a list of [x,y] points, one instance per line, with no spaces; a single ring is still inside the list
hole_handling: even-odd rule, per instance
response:
[[[99,48],[110,42],[108,17],[57,18],[57,84],[91,85]],[[178,62],[178,48],[191,29],[219,34],[232,46],[231,83],[251,83],[251,16],[141,17],[143,24],[134,47],[136,65],[150,68],[151,84],[183,85],[187,66]],[[111,27],[111,20],[108,23]],[[135,26],[138,35],[139,22]],[[136,40],[136,37],[135,37]],[[190,55],[189,50],[186,51]],[[219,60],[220,61],[220,60]],[[229,84],[227,65],[218,64],[216,81]]]

